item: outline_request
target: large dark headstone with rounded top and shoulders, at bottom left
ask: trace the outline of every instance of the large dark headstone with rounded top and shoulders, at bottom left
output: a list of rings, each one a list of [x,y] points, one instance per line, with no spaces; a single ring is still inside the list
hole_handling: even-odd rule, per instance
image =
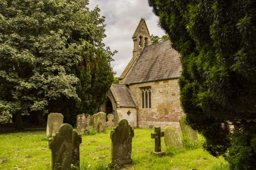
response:
[[[71,170],[70,165],[79,167],[79,145],[82,138],[69,124],[60,126],[58,133],[49,141],[52,170]]]

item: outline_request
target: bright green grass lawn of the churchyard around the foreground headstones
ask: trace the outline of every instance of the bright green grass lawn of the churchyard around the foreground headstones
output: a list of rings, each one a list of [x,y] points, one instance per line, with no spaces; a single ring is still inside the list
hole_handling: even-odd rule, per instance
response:
[[[151,155],[154,140],[153,129],[135,129],[132,144],[133,165],[128,170],[227,170],[223,158],[215,158],[203,149],[166,148],[162,138],[162,149],[168,156]],[[110,163],[110,130],[104,133],[85,135],[80,146],[81,170],[104,170]],[[28,131],[0,134],[0,170],[50,170],[51,150],[45,131]],[[3,160],[8,162],[3,163]]]

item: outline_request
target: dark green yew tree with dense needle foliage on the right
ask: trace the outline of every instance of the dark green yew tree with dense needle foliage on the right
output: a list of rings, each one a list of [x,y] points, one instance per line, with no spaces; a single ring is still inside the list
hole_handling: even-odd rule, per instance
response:
[[[256,2],[148,0],[181,54],[186,122],[232,169],[256,169]],[[234,133],[230,132],[234,126]]]

